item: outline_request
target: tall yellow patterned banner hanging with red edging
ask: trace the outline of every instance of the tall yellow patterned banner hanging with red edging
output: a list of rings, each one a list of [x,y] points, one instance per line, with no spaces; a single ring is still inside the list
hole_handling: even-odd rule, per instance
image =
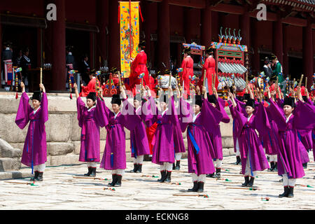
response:
[[[131,6],[131,10],[130,10]],[[130,76],[130,57],[135,58],[139,44],[139,2],[120,1],[120,70]],[[131,20],[130,20],[131,18]]]

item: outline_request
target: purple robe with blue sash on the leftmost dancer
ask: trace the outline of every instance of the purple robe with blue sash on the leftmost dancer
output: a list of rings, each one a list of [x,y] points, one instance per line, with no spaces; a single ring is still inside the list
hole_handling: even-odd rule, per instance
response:
[[[34,114],[34,110],[29,105],[29,97],[25,92],[22,93],[18,113],[15,123],[24,129],[29,123],[27,137],[22,153],[22,164],[33,169],[36,165],[44,164],[47,161],[47,146],[45,122],[48,120],[48,99],[43,92],[41,107]],[[32,171],[33,172],[33,171]]]

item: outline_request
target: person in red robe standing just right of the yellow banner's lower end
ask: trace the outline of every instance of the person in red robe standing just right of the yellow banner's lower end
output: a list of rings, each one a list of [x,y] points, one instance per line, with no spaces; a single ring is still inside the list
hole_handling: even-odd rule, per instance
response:
[[[136,58],[132,59],[131,74],[130,74],[130,90],[136,95],[136,85],[140,85],[141,79],[138,78],[141,73],[144,73],[144,85],[149,85],[148,68],[146,67],[146,41],[141,41],[138,45],[139,53]]]

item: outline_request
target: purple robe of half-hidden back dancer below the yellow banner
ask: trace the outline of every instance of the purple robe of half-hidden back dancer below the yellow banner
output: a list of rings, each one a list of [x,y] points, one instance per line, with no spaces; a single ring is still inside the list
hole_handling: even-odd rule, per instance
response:
[[[132,158],[137,158],[138,155],[150,154],[146,127],[144,126],[146,116],[144,113],[141,113],[141,107],[136,110],[136,113],[141,119],[141,122],[137,124],[134,130],[130,131],[130,150],[132,152]]]

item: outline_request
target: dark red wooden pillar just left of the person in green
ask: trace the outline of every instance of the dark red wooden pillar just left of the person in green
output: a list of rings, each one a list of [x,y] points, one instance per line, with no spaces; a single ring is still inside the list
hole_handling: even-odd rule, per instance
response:
[[[274,55],[278,57],[278,60],[283,64],[283,25],[281,22],[280,15],[277,15],[277,20],[273,22],[273,41],[272,41],[272,50]]]

